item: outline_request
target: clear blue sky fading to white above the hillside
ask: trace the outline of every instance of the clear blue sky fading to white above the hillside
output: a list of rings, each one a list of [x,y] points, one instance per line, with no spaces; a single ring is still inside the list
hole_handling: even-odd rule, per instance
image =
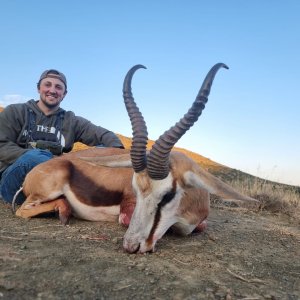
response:
[[[0,2],[0,105],[37,99],[40,74],[67,76],[62,107],[131,136],[134,98],[156,139],[186,113],[208,70],[206,109],[176,144],[263,178],[300,185],[300,1]]]

